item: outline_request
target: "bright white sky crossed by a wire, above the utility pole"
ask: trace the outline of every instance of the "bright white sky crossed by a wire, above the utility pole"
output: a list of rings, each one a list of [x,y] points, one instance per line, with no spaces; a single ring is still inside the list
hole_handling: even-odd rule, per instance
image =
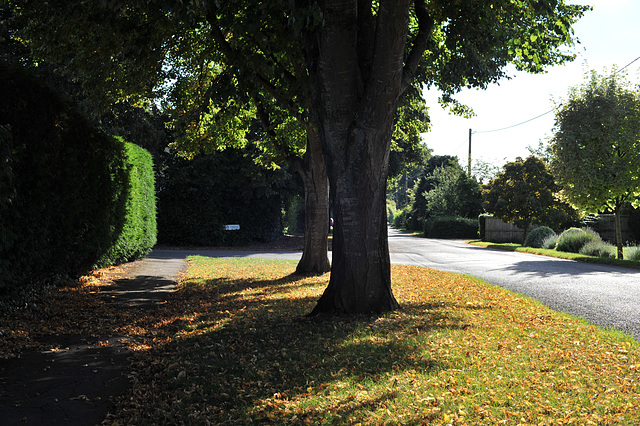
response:
[[[481,160],[502,167],[516,157],[530,155],[527,147],[553,135],[553,100],[561,101],[569,88],[580,85],[589,70],[608,72],[622,68],[640,57],[640,1],[582,0],[593,10],[574,25],[580,40],[572,51],[576,59],[566,65],[548,68],[545,74],[531,75],[512,70],[513,78],[493,84],[486,90],[465,89],[456,99],[473,108],[475,117],[465,119],[448,114],[438,105],[437,91],[426,91],[431,130],[423,140],[434,155],[455,155],[466,169],[469,129],[472,161]],[[640,83],[640,59],[626,68],[629,80]],[[542,117],[533,119],[542,114]],[[528,123],[517,125],[519,123]],[[507,130],[494,131],[506,127]]]

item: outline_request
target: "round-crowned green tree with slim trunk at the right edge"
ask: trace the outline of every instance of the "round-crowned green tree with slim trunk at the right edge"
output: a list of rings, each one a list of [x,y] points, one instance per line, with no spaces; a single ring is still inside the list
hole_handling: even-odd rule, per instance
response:
[[[552,167],[566,199],[616,217],[616,245],[622,258],[620,209],[640,205],[640,93],[616,71],[592,72],[573,87],[556,111]]]

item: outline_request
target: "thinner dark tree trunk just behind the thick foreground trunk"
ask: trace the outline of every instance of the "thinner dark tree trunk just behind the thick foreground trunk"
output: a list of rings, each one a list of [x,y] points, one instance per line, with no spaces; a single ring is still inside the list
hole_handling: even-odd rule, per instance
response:
[[[307,129],[307,151],[296,167],[304,184],[304,251],[297,274],[323,274],[331,269],[327,251],[329,228],[329,180],[318,133]]]

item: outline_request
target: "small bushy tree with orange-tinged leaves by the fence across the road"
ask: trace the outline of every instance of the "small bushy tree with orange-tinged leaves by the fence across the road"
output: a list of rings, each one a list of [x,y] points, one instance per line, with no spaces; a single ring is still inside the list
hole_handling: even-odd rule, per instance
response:
[[[575,212],[556,198],[558,185],[538,157],[517,158],[504,165],[495,179],[483,186],[484,208],[506,222],[524,229],[523,242],[532,224],[557,228]]]

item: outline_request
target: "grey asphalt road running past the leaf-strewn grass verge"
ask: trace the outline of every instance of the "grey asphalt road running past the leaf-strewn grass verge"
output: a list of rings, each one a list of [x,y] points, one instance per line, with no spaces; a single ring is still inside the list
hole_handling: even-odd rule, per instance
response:
[[[467,274],[539,300],[640,340],[640,271],[492,250],[457,240],[433,240],[389,229],[391,262]],[[299,259],[300,252],[154,250],[150,259],[210,257]],[[330,255],[331,253],[329,253]]]

